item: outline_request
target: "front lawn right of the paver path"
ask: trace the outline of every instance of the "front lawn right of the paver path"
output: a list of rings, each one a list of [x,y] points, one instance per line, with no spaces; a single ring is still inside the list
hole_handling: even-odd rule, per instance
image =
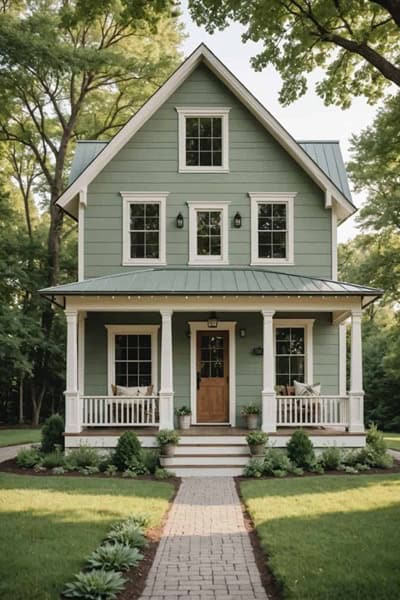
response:
[[[400,476],[246,481],[241,490],[283,598],[400,598]]]

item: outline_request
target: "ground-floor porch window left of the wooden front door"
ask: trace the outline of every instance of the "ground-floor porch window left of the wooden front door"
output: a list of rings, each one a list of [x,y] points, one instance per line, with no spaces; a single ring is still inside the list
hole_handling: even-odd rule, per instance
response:
[[[158,325],[106,325],[108,330],[108,383],[124,387],[153,385],[157,381]]]

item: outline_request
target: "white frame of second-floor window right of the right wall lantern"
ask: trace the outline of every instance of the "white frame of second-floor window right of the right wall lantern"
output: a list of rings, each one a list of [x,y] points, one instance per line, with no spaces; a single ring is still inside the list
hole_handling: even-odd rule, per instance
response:
[[[294,198],[296,193],[249,192],[251,202],[251,265],[294,265]],[[286,204],[286,258],[258,256],[258,205]]]

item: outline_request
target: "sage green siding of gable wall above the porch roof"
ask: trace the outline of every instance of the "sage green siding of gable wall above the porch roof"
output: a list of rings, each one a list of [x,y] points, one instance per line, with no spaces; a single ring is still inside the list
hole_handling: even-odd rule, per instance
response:
[[[177,106],[228,106],[229,173],[178,172]],[[295,265],[289,273],[331,277],[331,212],[323,192],[258,121],[203,65],[182,84],[89,186],[85,217],[85,277],[122,272],[121,191],[166,191],[167,263],[186,265],[188,200],[230,201],[229,262],[250,263],[248,192],[296,192]],[[242,228],[232,227],[236,211]],[[178,212],[185,217],[176,229]]]

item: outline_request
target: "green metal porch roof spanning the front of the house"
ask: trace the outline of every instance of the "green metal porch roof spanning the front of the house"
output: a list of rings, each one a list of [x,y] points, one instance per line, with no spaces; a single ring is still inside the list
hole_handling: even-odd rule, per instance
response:
[[[154,267],[135,269],[40,290],[45,296],[70,295],[357,295],[381,290],[354,283],[291,275],[251,267]]]

